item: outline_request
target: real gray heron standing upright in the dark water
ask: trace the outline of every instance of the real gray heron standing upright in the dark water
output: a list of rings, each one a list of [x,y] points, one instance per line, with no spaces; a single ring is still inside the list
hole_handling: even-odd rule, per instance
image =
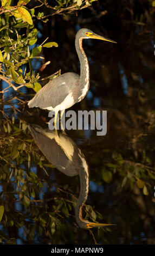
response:
[[[86,96],[89,89],[89,64],[85,51],[82,47],[83,39],[99,39],[109,42],[115,41],[93,33],[90,29],[81,28],[75,36],[75,48],[80,60],[80,76],[74,72],[64,73],[49,81],[28,102],[29,108],[39,107],[55,112],[54,123],[56,124],[57,113],[72,107]]]

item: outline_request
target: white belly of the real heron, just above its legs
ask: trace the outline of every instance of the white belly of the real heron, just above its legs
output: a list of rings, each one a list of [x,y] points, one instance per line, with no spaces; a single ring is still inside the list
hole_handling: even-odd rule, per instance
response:
[[[69,107],[72,107],[74,105],[74,97],[72,96],[72,93],[69,93],[67,95],[67,97],[59,104],[57,105],[55,108],[53,107],[46,107],[43,109],[47,109],[48,111],[55,111],[58,112],[60,110],[64,110],[67,109]]]

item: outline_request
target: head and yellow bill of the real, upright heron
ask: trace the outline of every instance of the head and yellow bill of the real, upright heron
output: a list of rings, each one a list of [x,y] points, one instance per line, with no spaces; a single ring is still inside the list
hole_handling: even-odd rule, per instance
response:
[[[99,39],[99,40],[104,40],[104,41],[108,41],[108,42],[115,42],[111,39],[105,38],[104,36],[95,34],[94,32],[92,32],[90,29],[87,28],[81,28],[78,33],[76,34],[76,36],[78,36],[79,38],[83,38],[83,39]],[[115,42],[117,43],[117,42]]]

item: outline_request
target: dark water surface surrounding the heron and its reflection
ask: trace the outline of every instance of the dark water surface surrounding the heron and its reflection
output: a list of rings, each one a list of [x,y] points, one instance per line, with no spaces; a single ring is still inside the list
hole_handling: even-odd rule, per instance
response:
[[[74,47],[79,28],[106,33],[101,19],[82,23],[80,16],[70,25],[67,20],[62,25],[61,19],[55,17],[61,29],[47,26],[44,33],[41,31],[44,36],[50,33],[59,44],[59,48],[43,52],[51,64],[41,78],[59,69],[62,74],[79,74]],[[93,234],[78,227],[75,205],[80,193],[79,175],[63,174],[38,148],[28,125],[47,129],[48,113],[29,109],[24,102],[31,99],[33,91],[22,88],[21,93],[8,92],[5,101],[1,100],[0,202],[5,207],[0,225],[2,243],[155,243],[154,30],[151,25],[126,24],[121,29],[113,25],[107,30],[108,38],[117,45],[98,40],[83,43],[90,65],[90,89],[85,99],[70,108],[76,112],[106,110],[106,136],[96,136],[91,130],[66,130],[89,166],[89,195],[83,217],[117,225],[93,229]],[[34,68],[37,70],[39,65],[34,63]],[[56,155],[55,165],[56,157],[62,159]],[[61,164],[59,161],[57,164]],[[72,164],[69,170],[72,172]]]

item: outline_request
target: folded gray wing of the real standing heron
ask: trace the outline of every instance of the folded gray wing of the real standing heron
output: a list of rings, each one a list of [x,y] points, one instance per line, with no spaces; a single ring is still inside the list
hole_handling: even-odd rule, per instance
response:
[[[79,75],[72,72],[58,76],[40,89],[28,105],[29,107],[55,108],[70,92],[73,92],[78,82]]]

